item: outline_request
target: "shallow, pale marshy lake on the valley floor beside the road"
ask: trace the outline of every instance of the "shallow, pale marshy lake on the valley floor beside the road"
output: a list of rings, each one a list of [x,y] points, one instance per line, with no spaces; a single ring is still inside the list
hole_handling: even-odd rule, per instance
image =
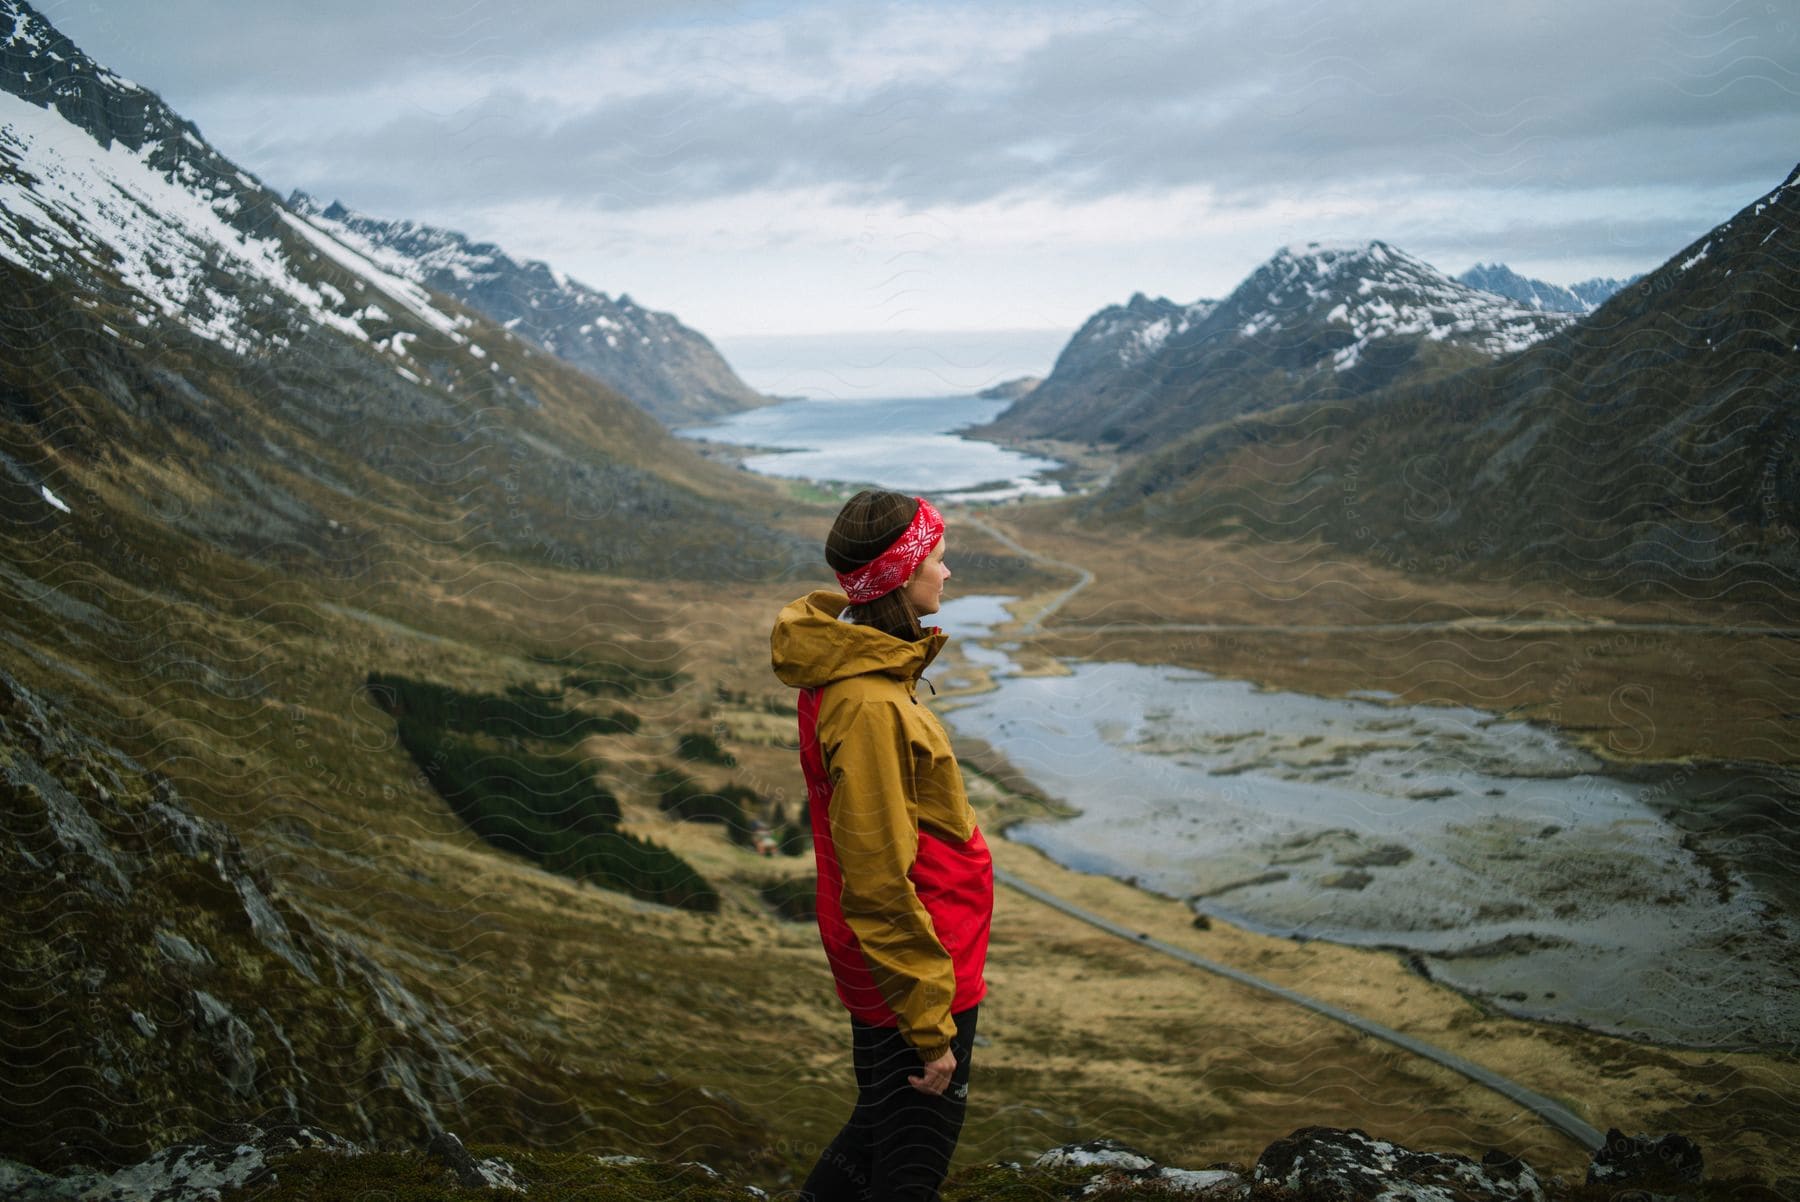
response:
[[[1004,597],[940,621],[963,648]],[[952,644],[956,646],[956,644]],[[1143,664],[1019,675],[945,720],[1082,813],[1008,837],[1271,934],[1390,946],[1532,1018],[1791,1047],[1800,923],[1553,731]],[[949,677],[945,684],[958,684]]]

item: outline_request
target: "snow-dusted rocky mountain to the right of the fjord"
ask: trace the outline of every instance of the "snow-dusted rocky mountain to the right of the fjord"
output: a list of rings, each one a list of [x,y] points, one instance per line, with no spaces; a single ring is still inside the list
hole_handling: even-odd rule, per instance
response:
[[[1564,322],[1388,243],[1283,247],[1224,300],[1103,309],[985,432],[1143,450],[1238,414],[1444,376]]]

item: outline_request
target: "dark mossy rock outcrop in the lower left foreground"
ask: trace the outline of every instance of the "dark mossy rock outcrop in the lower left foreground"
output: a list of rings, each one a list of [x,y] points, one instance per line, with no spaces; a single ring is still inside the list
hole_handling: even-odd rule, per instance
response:
[[[223,1121],[423,1143],[493,1074],[162,776],[0,671],[0,1155],[117,1168]]]

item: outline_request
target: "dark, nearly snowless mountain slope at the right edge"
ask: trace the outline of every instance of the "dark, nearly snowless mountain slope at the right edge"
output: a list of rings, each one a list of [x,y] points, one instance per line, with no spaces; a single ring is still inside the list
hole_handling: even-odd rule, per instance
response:
[[[1523,354],[1157,452],[1093,504],[1415,570],[1800,590],[1800,175]]]

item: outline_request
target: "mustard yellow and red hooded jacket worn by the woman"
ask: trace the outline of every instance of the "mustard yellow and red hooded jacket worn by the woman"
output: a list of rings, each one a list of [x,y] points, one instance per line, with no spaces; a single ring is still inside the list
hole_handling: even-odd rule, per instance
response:
[[[950,1015],[986,991],[992,860],[950,740],[916,695],[947,637],[895,639],[841,621],[846,606],[808,594],[770,633],[776,675],[803,691],[819,934],[850,1011],[898,1026],[931,1062]]]

